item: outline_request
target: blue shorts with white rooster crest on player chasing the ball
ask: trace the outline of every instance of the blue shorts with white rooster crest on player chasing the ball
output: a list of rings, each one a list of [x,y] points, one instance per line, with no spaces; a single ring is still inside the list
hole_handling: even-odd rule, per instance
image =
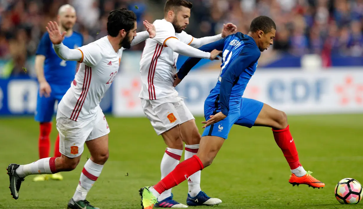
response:
[[[251,128],[254,125],[258,114],[260,114],[262,106],[264,106],[264,103],[260,101],[242,97],[240,102],[229,105],[229,112],[226,118],[206,127],[202,137],[216,136],[227,139],[233,124]],[[220,108],[218,107],[204,104],[205,120],[209,120],[209,116],[220,112],[219,109]]]

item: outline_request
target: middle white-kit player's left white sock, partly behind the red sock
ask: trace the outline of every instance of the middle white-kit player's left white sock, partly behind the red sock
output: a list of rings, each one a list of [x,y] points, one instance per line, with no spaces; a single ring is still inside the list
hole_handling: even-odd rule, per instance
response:
[[[164,179],[174,168],[179,164],[181,154],[183,154],[183,150],[171,149],[167,148],[165,150],[163,159],[161,160],[160,170],[161,170],[161,179]],[[159,195],[158,195],[159,196]],[[165,198],[171,196],[171,189],[160,194],[158,201],[162,201]]]

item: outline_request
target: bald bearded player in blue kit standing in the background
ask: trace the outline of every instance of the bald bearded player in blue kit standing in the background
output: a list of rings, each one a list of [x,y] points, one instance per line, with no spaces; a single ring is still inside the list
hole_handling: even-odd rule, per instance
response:
[[[76,11],[69,5],[59,8],[57,20],[61,32],[66,31],[64,45],[70,49],[76,49],[83,45],[83,37],[80,33],[73,31],[76,23]],[[61,101],[67,92],[76,74],[78,64],[76,61],[65,61],[54,52],[53,44],[49,39],[48,32],[45,32],[37,49],[35,58],[35,69],[39,81],[39,92],[35,120],[40,122],[39,134],[39,158],[48,158],[50,150],[50,131],[52,130],[52,117],[56,100]],[[59,135],[54,145],[54,157],[60,157]],[[60,173],[52,175],[38,175],[34,181],[44,181],[48,178],[62,180]]]

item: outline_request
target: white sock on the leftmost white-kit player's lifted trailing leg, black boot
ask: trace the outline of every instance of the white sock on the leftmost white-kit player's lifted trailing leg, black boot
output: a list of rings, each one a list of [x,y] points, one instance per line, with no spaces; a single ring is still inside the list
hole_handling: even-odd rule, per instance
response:
[[[30,164],[20,165],[16,169],[16,173],[20,177],[40,174],[55,174],[57,173],[55,162],[56,158],[42,158]]]

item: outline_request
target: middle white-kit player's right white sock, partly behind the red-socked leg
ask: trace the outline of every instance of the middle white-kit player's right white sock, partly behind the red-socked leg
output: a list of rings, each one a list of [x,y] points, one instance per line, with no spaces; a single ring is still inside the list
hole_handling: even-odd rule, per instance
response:
[[[185,145],[185,154],[184,159],[189,159],[193,155],[197,154],[199,149],[199,145]],[[188,179],[188,193],[191,197],[197,196],[197,194],[201,191],[200,189],[200,172],[197,171],[193,175],[189,176]]]

